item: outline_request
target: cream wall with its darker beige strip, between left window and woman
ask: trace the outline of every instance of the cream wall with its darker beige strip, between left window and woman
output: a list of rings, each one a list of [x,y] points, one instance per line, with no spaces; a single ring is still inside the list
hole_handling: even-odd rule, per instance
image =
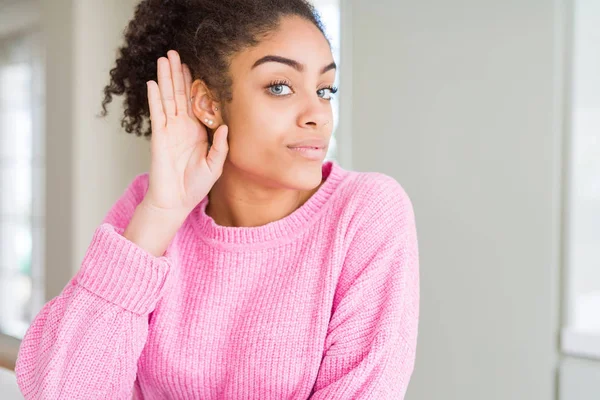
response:
[[[46,44],[46,297],[79,269],[92,234],[133,177],[147,171],[149,142],[120,127],[122,97],[104,98],[135,0],[40,0]]]

